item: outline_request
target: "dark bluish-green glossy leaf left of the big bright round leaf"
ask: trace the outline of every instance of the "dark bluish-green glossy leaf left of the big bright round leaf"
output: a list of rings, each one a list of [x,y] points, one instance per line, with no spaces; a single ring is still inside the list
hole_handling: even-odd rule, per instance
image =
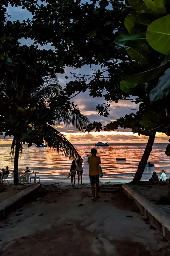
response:
[[[117,49],[128,50],[131,46],[144,46],[146,44],[145,37],[140,34],[135,35],[121,35],[115,39]]]

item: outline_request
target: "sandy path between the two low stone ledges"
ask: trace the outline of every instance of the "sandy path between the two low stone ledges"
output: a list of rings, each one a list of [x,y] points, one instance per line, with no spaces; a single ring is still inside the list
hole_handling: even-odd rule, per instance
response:
[[[92,202],[87,187],[50,189],[0,222],[2,256],[170,254],[169,243],[131,211],[136,207],[122,193]]]

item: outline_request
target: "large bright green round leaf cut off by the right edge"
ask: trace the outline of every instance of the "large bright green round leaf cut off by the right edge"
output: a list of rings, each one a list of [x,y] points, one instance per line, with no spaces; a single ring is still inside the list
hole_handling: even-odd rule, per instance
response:
[[[149,25],[146,39],[154,50],[165,55],[170,53],[170,14]]]

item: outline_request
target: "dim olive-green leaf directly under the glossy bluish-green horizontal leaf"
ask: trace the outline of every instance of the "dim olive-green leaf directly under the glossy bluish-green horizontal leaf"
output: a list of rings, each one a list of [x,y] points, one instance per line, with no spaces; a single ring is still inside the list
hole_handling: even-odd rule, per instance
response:
[[[136,60],[139,63],[147,63],[148,47],[130,48],[127,50],[128,55],[132,60]]]

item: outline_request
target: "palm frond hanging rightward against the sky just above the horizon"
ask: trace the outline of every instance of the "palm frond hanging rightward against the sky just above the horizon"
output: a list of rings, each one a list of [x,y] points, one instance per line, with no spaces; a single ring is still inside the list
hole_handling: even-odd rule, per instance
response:
[[[65,125],[66,127],[73,127],[79,132],[83,131],[90,122],[89,119],[83,114],[75,114],[72,111],[64,111],[62,109],[56,110],[55,120],[53,120],[56,125]]]

